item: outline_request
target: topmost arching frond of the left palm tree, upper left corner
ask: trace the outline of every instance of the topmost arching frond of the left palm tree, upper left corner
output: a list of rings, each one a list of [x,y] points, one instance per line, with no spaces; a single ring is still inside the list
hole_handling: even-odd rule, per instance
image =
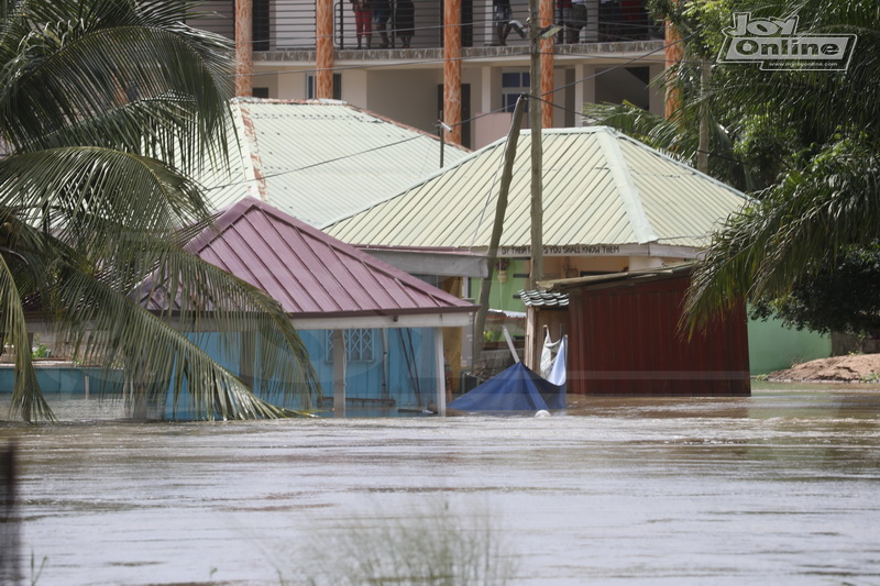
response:
[[[152,109],[158,118],[151,132],[174,136],[187,165],[226,148],[227,41],[179,23],[162,27],[165,20],[151,20],[161,11],[139,12],[134,2],[44,4],[56,3],[28,3],[0,43],[0,131],[14,148],[64,143],[58,133],[79,144],[106,144],[108,134],[138,136],[143,109],[124,107],[157,99],[175,108]],[[129,147],[140,152],[145,144]]]

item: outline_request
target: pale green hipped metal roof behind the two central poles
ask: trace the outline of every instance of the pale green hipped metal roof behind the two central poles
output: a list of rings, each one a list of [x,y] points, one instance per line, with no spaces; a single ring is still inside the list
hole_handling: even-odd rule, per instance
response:
[[[506,141],[327,228],[352,244],[486,248]],[[543,132],[544,246],[704,246],[746,197],[607,128]],[[524,131],[502,246],[530,245],[530,132]]]

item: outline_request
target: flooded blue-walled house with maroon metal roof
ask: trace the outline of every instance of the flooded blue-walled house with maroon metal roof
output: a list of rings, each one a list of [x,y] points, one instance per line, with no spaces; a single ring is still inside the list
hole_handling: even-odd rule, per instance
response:
[[[336,416],[346,405],[436,402],[443,412],[444,353],[471,323],[472,303],[253,198],[226,210],[188,248],[280,303]],[[144,303],[161,310],[168,299],[174,296],[152,289]],[[209,351],[216,343],[210,333],[196,339]],[[244,349],[241,355],[226,366],[252,373]]]

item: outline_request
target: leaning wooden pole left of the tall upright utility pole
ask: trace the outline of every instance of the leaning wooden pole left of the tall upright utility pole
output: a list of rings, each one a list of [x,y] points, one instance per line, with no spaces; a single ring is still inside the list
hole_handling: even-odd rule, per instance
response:
[[[483,352],[483,329],[486,327],[486,313],[488,312],[488,294],[492,290],[492,274],[495,270],[495,263],[498,256],[498,244],[504,232],[504,215],[507,212],[507,194],[510,191],[510,181],[514,177],[514,159],[516,158],[516,145],[519,142],[519,129],[522,128],[522,111],[526,109],[526,97],[520,96],[514,109],[514,120],[510,123],[510,133],[507,135],[507,150],[504,152],[504,168],[502,169],[502,180],[498,187],[498,202],[495,206],[495,223],[492,226],[492,237],[488,243],[488,275],[483,279],[480,287],[480,308],[474,318],[474,360],[480,360]]]

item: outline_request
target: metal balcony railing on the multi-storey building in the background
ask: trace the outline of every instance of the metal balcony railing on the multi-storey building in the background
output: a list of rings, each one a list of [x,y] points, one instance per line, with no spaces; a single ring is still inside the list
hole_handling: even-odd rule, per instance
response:
[[[373,0],[377,2],[381,0]],[[662,30],[649,18],[645,0],[610,2],[587,1],[587,22],[574,32],[569,11],[563,8],[569,0],[557,0],[554,20],[563,26],[557,43],[622,42],[657,38]],[[254,51],[296,51],[315,48],[315,0],[253,0]],[[388,0],[389,18],[385,37],[377,23],[370,19],[370,42],[362,34],[361,47],[402,48],[405,36],[411,36],[409,48],[425,49],[443,46],[442,0],[413,0],[411,20],[407,15],[406,0]],[[512,0],[512,26],[504,44],[527,44],[525,23],[528,19],[527,0]],[[234,0],[210,0],[202,4],[205,15],[190,22],[193,26],[234,38]],[[499,27],[493,16],[491,0],[462,0],[462,46],[495,46],[502,44]],[[575,41],[576,38],[576,41]],[[333,7],[333,40],[338,48],[356,48],[355,13],[350,0]]]

